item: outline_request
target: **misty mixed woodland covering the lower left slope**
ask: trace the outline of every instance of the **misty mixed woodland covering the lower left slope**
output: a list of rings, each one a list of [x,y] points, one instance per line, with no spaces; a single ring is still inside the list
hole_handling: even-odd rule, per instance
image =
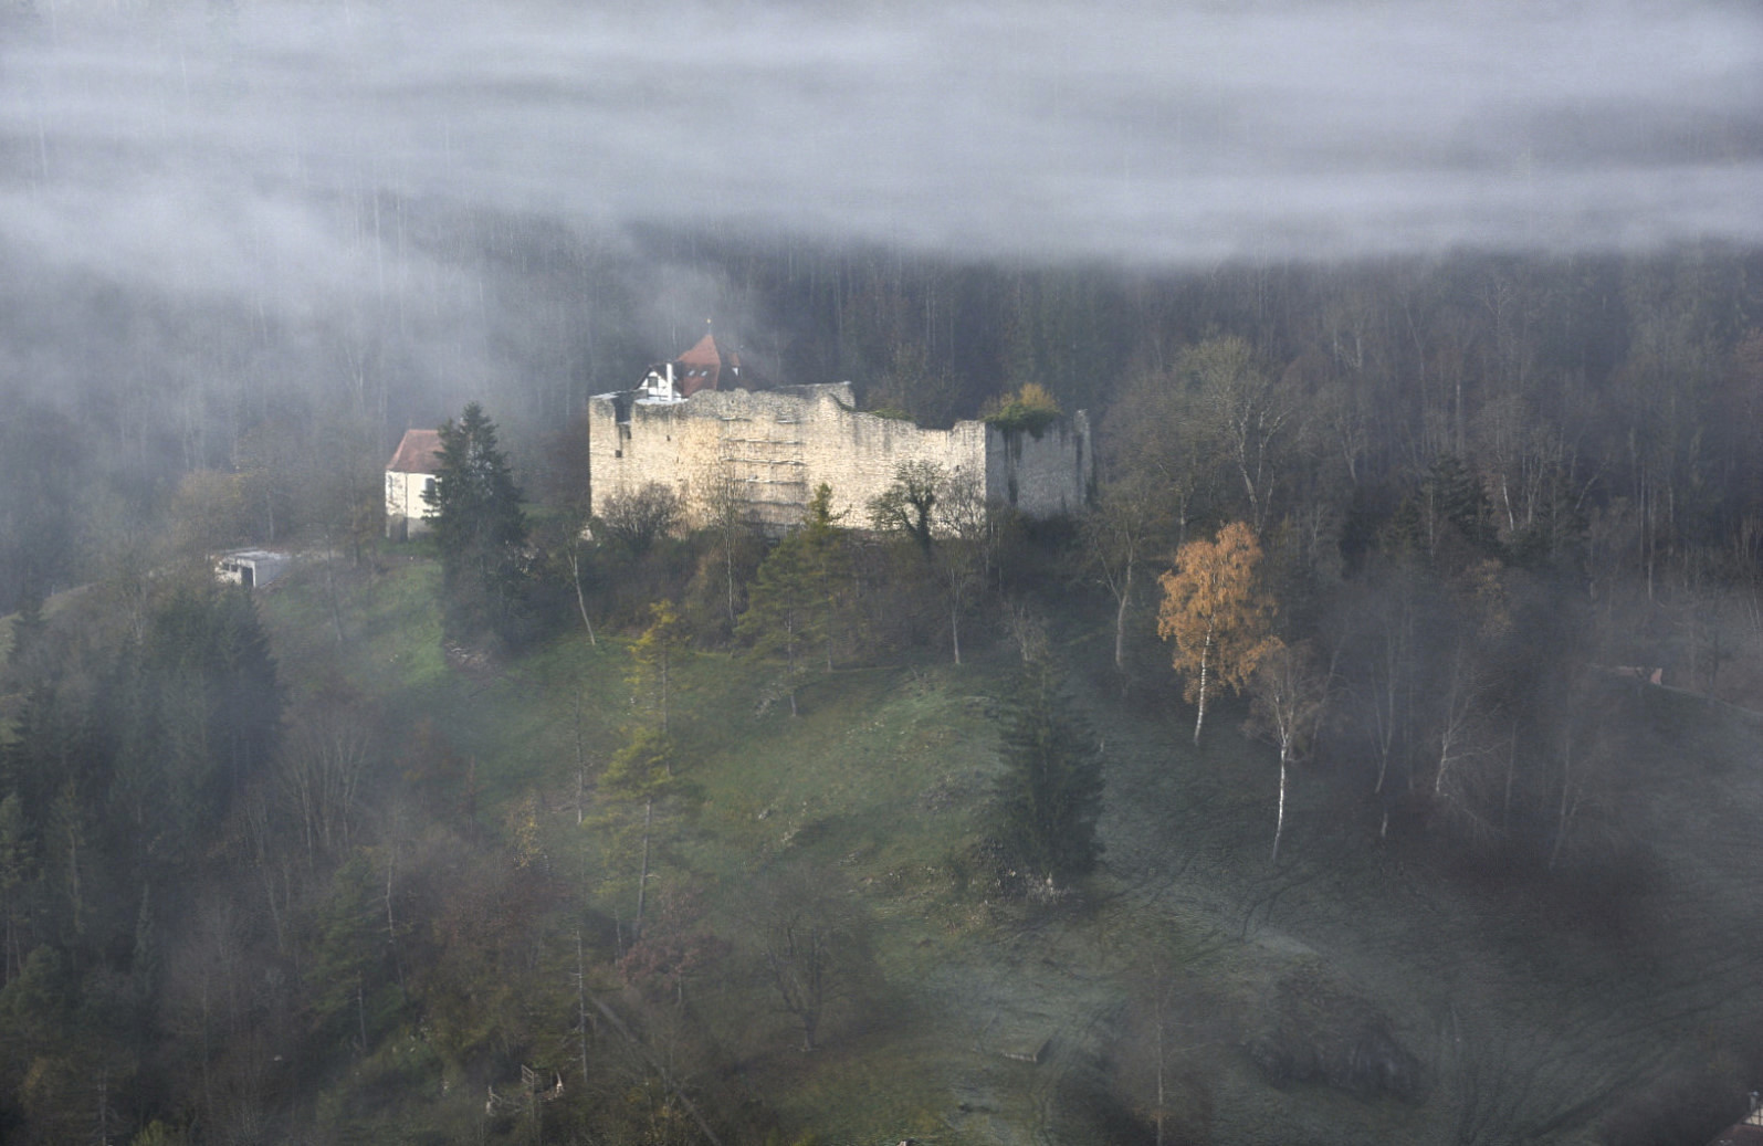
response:
[[[631,751],[584,772],[562,825],[548,795],[490,799],[430,719],[342,675],[284,681],[249,592],[205,564],[11,629],[7,1142],[368,1141],[397,1118],[435,1141],[777,1130],[696,993],[765,989],[755,961],[802,919],[802,878],[756,885],[739,933],[705,927],[675,855],[688,756],[658,748],[656,709],[629,714]],[[636,652],[643,696],[688,658],[666,626]],[[672,735],[691,728],[675,700]],[[867,973],[846,896],[820,894],[813,989],[792,996],[809,1042]]]

